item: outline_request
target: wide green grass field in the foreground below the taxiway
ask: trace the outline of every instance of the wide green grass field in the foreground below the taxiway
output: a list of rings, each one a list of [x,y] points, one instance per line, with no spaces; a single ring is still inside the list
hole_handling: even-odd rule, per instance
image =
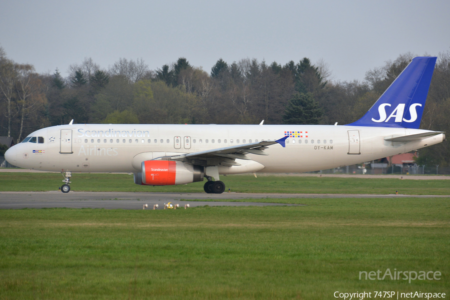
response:
[[[307,206],[0,210],[0,299],[448,299],[448,199],[301,200]],[[442,275],[358,279],[386,269]]]

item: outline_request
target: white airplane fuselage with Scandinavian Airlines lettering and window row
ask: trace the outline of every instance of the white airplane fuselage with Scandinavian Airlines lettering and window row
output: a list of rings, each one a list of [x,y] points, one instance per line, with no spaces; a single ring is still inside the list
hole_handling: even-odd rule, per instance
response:
[[[419,129],[331,125],[60,125],[19,143],[7,160],[21,168],[59,172],[140,172],[140,163],[161,156],[274,141],[286,134],[285,148],[271,145],[268,155],[247,154],[240,166],[219,174],[306,172],[352,165],[423,148],[443,141],[437,134],[411,142],[384,138],[425,132]],[[42,141],[42,139],[40,139]]]

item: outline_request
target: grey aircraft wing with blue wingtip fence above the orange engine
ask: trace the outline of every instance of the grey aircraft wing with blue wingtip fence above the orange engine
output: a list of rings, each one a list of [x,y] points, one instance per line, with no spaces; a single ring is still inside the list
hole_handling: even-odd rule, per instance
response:
[[[285,136],[276,141],[261,141],[180,155],[161,156],[153,160],[176,160],[199,166],[216,166],[218,164],[240,166],[239,163],[235,162],[235,159],[251,160],[246,154],[268,155],[264,152],[268,146],[280,144],[282,147],[285,147],[285,140],[287,138]]]

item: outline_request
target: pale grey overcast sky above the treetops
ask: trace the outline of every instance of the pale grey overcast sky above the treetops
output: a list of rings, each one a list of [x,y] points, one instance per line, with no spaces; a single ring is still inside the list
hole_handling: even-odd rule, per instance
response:
[[[335,80],[362,80],[401,53],[450,50],[450,0],[0,0],[0,45],[39,73],[91,57],[150,69],[185,57],[208,73],[222,58],[323,59]]]

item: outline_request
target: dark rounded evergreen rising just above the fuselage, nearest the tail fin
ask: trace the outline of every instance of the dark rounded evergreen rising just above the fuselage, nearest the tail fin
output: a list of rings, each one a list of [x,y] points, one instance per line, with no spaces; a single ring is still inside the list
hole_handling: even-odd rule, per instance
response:
[[[295,93],[284,110],[284,124],[315,125],[323,112],[311,93]]]

